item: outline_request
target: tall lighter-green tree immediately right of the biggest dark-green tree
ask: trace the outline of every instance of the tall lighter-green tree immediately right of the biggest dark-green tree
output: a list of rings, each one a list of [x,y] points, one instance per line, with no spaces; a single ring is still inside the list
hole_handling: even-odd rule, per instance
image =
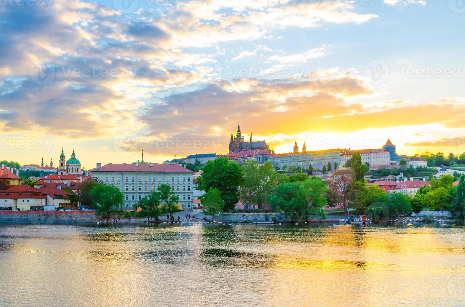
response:
[[[240,186],[239,197],[244,203],[257,204],[261,208],[266,202],[266,197],[273,192],[276,185],[283,181],[284,177],[273,169],[270,162],[259,163],[255,160],[248,160],[242,168],[244,178]]]

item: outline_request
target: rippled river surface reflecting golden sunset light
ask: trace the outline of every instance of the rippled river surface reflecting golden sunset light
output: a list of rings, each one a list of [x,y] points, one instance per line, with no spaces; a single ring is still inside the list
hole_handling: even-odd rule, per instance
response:
[[[0,225],[0,305],[464,306],[464,231]]]

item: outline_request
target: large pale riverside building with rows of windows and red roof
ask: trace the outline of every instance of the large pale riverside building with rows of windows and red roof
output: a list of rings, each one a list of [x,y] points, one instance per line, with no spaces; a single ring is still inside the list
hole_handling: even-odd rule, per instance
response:
[[[193,172],[178,164],[109,163],[92,170],[91,174],[105,184],[116,185],[123,192],[124,210],[133,209],[140,199],[163,184],[171,186],[182,209],[193,208]]]

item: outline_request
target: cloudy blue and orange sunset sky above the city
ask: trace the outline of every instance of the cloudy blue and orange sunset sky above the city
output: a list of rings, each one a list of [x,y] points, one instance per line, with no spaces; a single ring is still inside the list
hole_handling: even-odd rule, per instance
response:
[[[0,0],[0,159],[465,152],[465,2]]]

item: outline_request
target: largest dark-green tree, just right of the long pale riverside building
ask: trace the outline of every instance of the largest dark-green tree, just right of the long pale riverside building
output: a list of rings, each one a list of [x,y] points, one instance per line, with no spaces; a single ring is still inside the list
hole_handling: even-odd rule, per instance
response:
[[[239,201],[239,186],[242,184],[243,170],[234,161],[226,158],[209,160],[202,168],[198,179],[198,190],[208,191],[217,188],[225,202],[225,209],[232,210]]]

